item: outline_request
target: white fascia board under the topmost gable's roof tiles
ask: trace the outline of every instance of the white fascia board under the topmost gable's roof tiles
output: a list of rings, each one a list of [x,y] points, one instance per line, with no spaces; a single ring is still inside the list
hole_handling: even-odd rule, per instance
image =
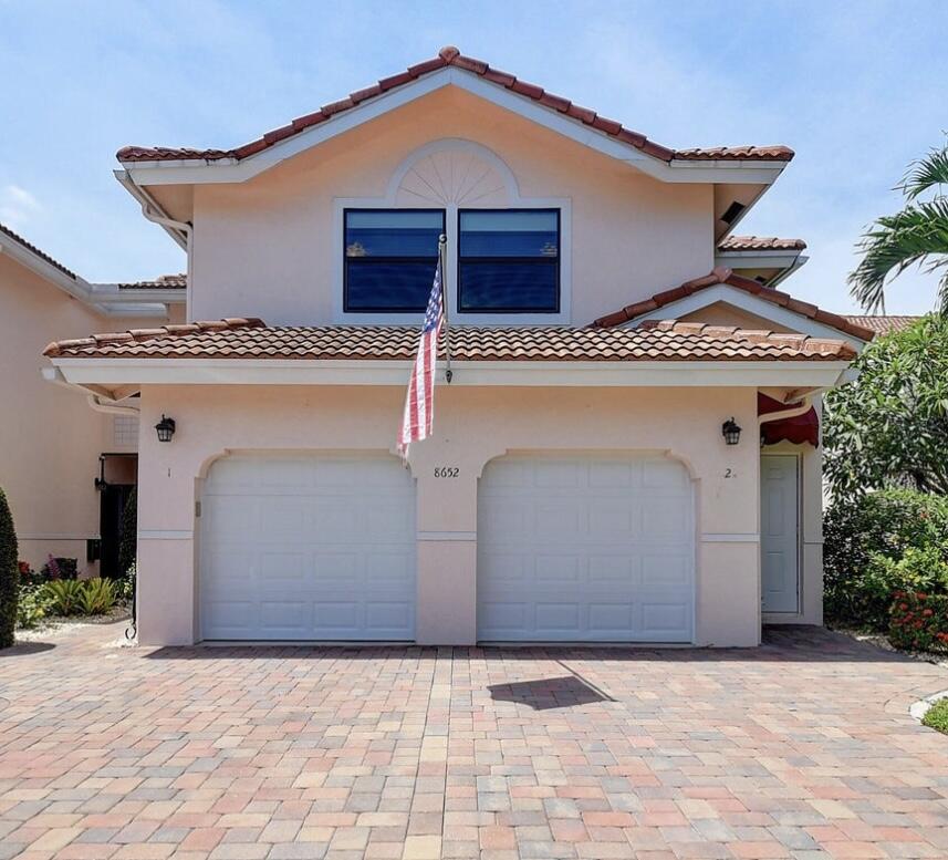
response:
[[[770,185],[788,164],[786,162],[732,159],[712,162],[676,159],[669,164],[646,155],[632,144],[617,141],[597,128],[585,125],[580,120],[542,105],[533,99],[485,81],[473,72],[447,66],[367,99],[355,107],[342,111],[319,125],[299,132],[241,160],[225,158],[124,162],[123,167],[138,186],[247,182],[305,149],[448,85],[466,90],[512,111],[525,120],[624,162],[660,182]],[[116,172],[116,175],[118,173]]]

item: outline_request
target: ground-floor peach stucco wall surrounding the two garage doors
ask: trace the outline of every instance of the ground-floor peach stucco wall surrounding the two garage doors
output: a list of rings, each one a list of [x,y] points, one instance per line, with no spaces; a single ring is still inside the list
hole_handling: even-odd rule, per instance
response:
[[[178,429],[170,444],[142,437],[139,641],[200,639],[195,501],[217,457],[228,450],[390,450],[403,397],[396,387],[146,386],[143,425],[165,413]],[[478,477],[507,452],[665,452],[694,479],[696,641],[754,645],[759,447],[753,433],[736,447],[725,445],[720,426],[731,415],[754,425],[754,390],[439,387],[436,436],[413,448],[418,531],[476,532]],[[444,465],[457,466],[459,477],[435,478],[434,467]],[[733,477],[725,477],[727,469]],[[419,642],[475,641],[476,550],[469,539],[419,540]]]

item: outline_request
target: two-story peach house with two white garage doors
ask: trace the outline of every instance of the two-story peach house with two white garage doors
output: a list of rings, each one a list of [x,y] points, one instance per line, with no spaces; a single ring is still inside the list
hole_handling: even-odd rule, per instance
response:
[[[775,289],[801,242],[731,238],[792,155],[671,149],[454,48],[233,149],[122,149],[189,323],[46,355],[140,407],[139,640],[821,623],[820,394],[873,332]],[[454,379],[405,465],[441,234]]]

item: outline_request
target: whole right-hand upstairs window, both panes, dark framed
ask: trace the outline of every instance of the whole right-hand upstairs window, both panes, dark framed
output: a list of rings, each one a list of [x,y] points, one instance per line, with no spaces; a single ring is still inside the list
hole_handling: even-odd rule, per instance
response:
[[[458,211],[461,313],[560,311],[560,210]]]

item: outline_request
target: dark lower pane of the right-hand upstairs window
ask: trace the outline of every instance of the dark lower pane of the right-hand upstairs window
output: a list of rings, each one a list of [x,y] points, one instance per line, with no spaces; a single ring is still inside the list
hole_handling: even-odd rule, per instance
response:
[[[460,274],[462,311],[555,313],[560,310],[555,262],[462,260]]]

